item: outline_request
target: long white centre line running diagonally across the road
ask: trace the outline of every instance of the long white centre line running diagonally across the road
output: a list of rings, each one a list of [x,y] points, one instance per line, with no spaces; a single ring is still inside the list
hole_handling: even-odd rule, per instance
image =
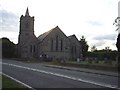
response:
[[[120,88],[118,88],[118,86],[115,86],[115,85],[110,85],[110,84],[105,84],[105,83],[96,83],[96,82],[84,80],[84,79],[81,79],[81,78],[70,77],[70,76],[67,76],[67,75],[62,75],[62,74],[58,74],[58,73],[47,72],[47,71],[43,71],[43,70],[39,70],[39,69],[34,69],[34,68],[29,68],[29,67],[24,67],[24,66],[19,66],[19,65],[15,65],[15,64],[9,64],[9,63],[2,63],[2,64],[9,65],[9,66],[14,66],[14,67],[18,67],[18,68],[24,68],[24,69],[27,69],[27,70],[37,71],[37,72],[40,72],[40,73],[51,74],[51,75],[55,75],[55,76],[59,76],[59,77],[64,77],[64,78],[68,78],[68,79],[72,79],[72,80],[76,80],[76,81],[80,81],[80,82],[90,83],[90,84],[94,84],[94,85],[98,85],[98,86],[102,86],[102,87],[120,89]]]

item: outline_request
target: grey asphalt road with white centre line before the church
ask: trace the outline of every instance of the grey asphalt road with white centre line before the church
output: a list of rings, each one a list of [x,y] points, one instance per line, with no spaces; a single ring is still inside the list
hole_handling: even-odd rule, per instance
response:
[[[118,88],[118,77],[2,61],[2,72],[32,88]]]

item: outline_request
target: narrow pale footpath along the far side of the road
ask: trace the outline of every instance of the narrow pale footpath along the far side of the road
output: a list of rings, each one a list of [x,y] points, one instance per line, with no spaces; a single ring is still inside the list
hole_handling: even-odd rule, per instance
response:
[[[88,68],[75,68],[75,67],[68,67],[68,66],[48,65],[48,64],[41,64],[41,65],[43,65],[45,67],[73,70],[73,71],[93,73],[93,74],[100,74],[100,75],[107,75],[107,76],[114,76],[114,77],[118,77],[119,76],[119,74],[117,72],[94,70],[94,69],[88,69]]]

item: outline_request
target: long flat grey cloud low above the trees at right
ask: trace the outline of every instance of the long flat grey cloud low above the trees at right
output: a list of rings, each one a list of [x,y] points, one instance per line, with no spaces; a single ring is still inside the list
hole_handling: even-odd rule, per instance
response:
[[[115,40],[116,39],[116,34],[108,34],[108,35],[100,35],[97,37],[94,37],[94,40]]]

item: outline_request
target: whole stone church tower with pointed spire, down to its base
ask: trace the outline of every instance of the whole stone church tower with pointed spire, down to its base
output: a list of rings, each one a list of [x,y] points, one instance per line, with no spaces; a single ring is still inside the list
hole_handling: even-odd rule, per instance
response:
[[[21,58],[32,58],[36,53],[36,36],[34,35],[34,17],[29,15],[27,8],[25,16],[20,17],[18,52]]]

